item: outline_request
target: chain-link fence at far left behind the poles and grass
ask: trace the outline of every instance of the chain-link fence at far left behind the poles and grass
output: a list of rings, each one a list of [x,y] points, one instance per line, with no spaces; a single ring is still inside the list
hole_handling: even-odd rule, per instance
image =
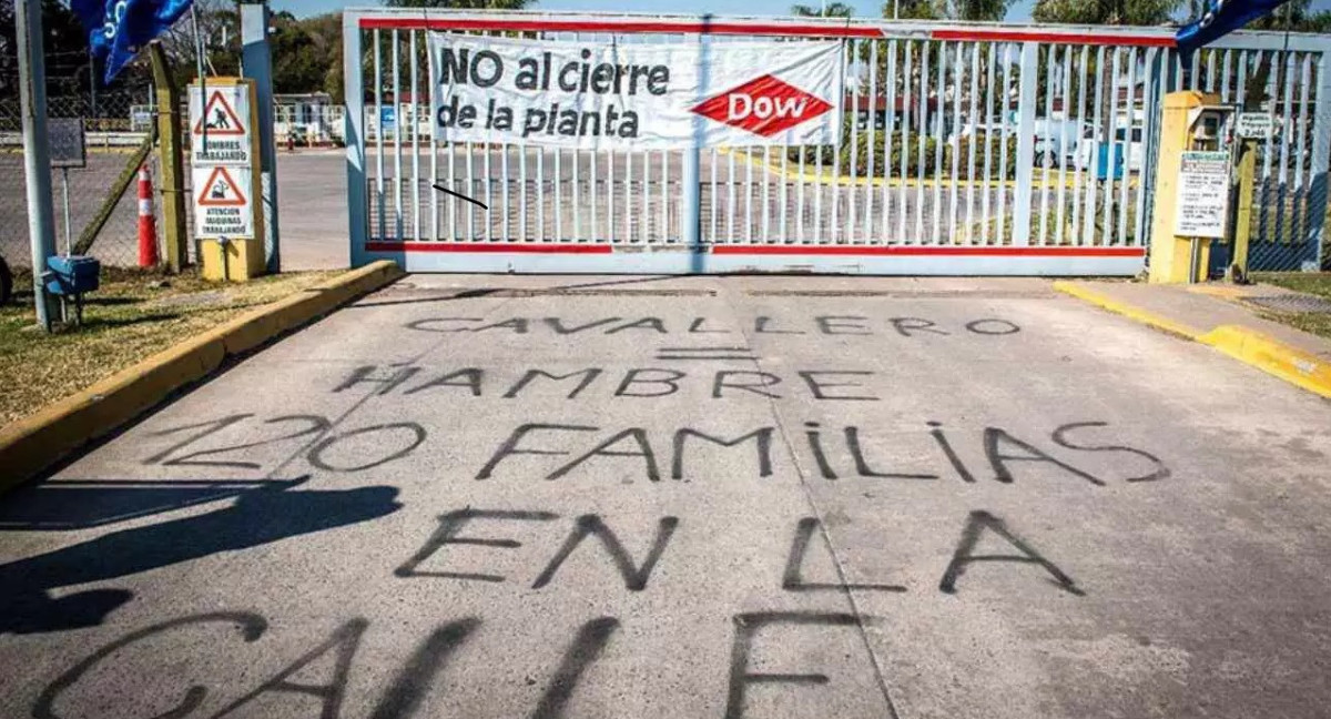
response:
[[[52,96],[48,117],[81,117],[88,148],[81,168],[53,169],[51,189],[55,205],[56,246],[65,250],[79,242],[114,189],[117,176],[156,121],[148,87],[98,95]],[[0,99],[0,256],[13,266],[32,264],[28,242],[28,196],[23,156],[23,125],[17,97]],[[160,157],[154,149],[146,161],[153,178],[153,208],[157,226],[162,225]],[[188,173],[186,173],[188,182]],[[68,197],[68,201],[67,201]],[[68,221],[67,221],[68,217]],[[158,242],[161,232],[158,232]],[[138,261],[137,180],[116,202],[89,250],[106,265],[133,266]]]

